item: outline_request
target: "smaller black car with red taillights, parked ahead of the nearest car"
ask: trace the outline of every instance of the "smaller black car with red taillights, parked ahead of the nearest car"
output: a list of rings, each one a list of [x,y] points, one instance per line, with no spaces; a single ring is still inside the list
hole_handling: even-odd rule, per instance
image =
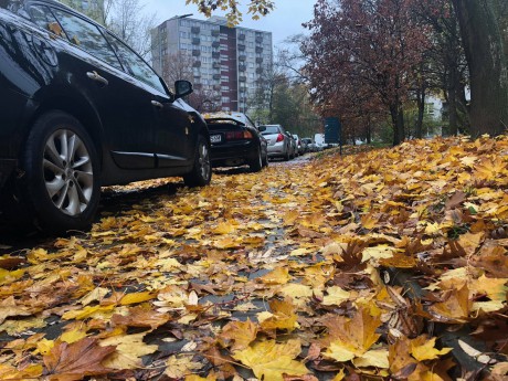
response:
[[[265,127],[255,127],[243,113],[205,114],[212,144],[212,167],[248,165],[251,171],[261,171],[268,165],[266,139],[260,134]]]

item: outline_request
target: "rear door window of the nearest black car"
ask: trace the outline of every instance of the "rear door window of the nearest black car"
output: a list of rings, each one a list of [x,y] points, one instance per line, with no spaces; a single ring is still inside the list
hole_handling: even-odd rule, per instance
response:
[[[115,52],[100,33],[97,27],[74,14],[53,9],[56,19],[64,30],[67,39],[89,54],[100,59],[112,66],[123,70]],[[51,24],[50,24],[51,27]]]

